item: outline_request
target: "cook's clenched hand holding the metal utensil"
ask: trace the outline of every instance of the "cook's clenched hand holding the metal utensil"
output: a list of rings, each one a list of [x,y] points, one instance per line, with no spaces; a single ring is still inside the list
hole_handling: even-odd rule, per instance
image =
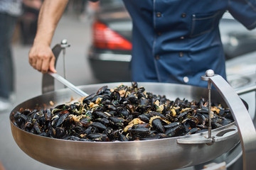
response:
[[[39,72],[46,74],[48,71],[56,72],[55,56],[50,46],[41,43],[34,43],[28,54],[29,64]]]

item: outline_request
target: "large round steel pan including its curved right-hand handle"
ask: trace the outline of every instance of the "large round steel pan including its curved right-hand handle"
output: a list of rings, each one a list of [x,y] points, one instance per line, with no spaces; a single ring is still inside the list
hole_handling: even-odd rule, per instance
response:
[[[14,113],[20,108],[46,107],[80,98],[69,89],[50,91],[36,96],[16,106],[10,114],[11,131],[17,145],[33,159],[60,169],[178,169],[208,162],[241,142],[243,169],[254,169],[256,162],[256,132],[249,113],[235,91],[220,76],[204,77],[218,91],[211,90],[211,100],[230,108],[235,123],[208,132],[159,140],[131,142],[81,142],[60,140],[34,135],[17,128]],[[100,87],[109,88],[121,83],[91,84],[78,86],[82,91],[92,94]],[[130,83],[122,83],[130,86]],[[146,91],[166,95],[167,98],[186,98],[199,100],[208,97],[208,89],[196,86],[163,83],[138,83]]]

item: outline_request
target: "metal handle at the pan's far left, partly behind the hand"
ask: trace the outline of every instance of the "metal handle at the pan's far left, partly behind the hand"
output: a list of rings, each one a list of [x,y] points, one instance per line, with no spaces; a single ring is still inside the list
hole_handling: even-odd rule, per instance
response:
[[[58,60],[58,57],[60,55],[61,50],[65,49],[65,47],[70,47],[68,45],[67,40],[62,40],[60,44],[57,44],[53,47],[53,55],[55,56],[55,67]],[[49,91],[54,91],[54,78],[51,77],[49,74],[43,74],[42,79],[42,94],[45,94]]]

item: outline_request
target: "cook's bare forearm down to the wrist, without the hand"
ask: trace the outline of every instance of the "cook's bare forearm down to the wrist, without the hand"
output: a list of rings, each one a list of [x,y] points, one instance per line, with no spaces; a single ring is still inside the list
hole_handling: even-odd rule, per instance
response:
[[[45,0],[38,16],[38,30],[34,43],[45,43],[50,46],[55,28],[60,21],[68,0]]]

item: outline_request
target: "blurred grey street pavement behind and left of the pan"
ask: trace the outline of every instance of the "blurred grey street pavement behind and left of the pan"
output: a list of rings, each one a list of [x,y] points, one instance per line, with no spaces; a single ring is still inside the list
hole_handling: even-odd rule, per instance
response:
[[[86,62],[87,49],[90,45],[90,24],[80,21],[77,16],[65,15],[61,18],[58,28],[53,37],[52,47],[67,39],[70,47],[65,53],[66,78],[75,86],[94,84],[97,80],[92,77]],[[23,101],[41,95],[42,74],[28,64],[28,52],[31,46],[23,46],[15,42],[13,46],[14,66],[16,72],[16,95],[13,106]],[[57,63],[57,72],[63,75],[63,55],[60,54]],[[63,85],[55,82],[55,89],[63,89]],[[6,170],[16,169],[55,169],[46,164],[41,164],[35,159],[28,157],[16,145],[11,135],[9,114],[11,109],[0,113],[0,160]]]

